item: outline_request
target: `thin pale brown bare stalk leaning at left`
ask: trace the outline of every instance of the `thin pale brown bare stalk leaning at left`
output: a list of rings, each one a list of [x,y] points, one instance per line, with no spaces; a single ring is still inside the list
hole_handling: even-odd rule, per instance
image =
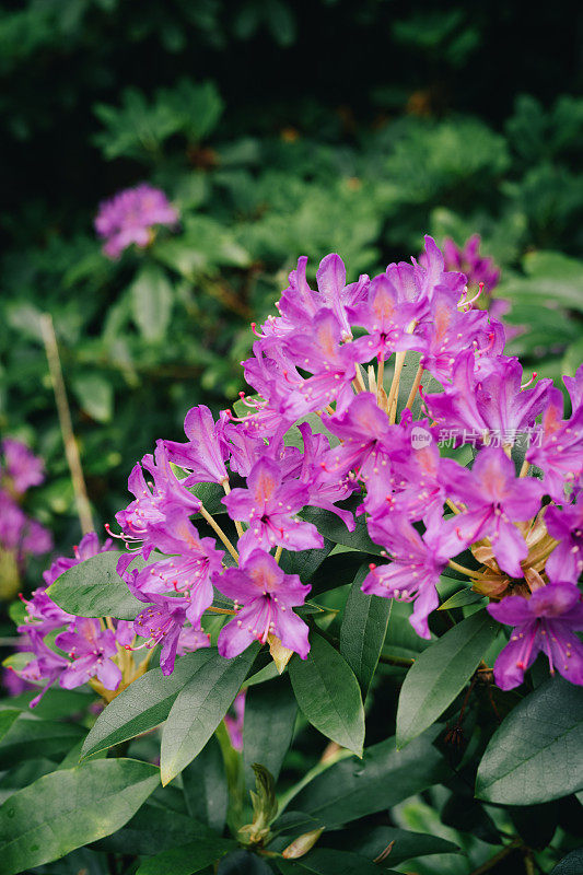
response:
[[[73,483],[77,513],[79,515],[79,522],[81,523],[81,530],[83,532],[83,535],[86,535],[88,532],[94,532],[95,527],[93,525],[91,505],[89,503],[85,478],[83,477],[83,468],[81,466],[79,447],[77,445],[73,425],[71,422],[71,411],[69,409],[67,389],[65,388],[65,381],[62,378],[59,348],[57,345],[57,337],[55,335],[55,327],[53,325],[53,317],[50,313],[44,313],[40,316],[40,328],[43,331],[43,342],[45,345],[48,370],[50,373],[50,382],[53,383],[53,392],[55,393],[55,402],[57,405],[57,413],[59,417],[62,442],[65,445],[65,455],[67,457],[67,464],[69,466],[71,481]]]

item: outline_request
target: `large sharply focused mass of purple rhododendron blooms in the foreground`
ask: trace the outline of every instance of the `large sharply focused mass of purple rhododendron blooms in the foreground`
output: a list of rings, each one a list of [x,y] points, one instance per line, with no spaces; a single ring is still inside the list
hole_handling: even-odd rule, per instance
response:
[[[118,572],[144,607],[123,634],[160,643],[165,674],[179,646],[208,644],[211,615],[225,658],[254,640],[278,664],[305,658],[310,586],[287,559],[322,549],[317,521],[335,514],[381,548],[363,592],[412,603],[419,635],[452,569],[509,627],[499,686],[521,684],[538,652],[583,685],[583,366],[565,381],[567,415],[550,380],[525,378],[504,353],[503,326],[475,308],[431,237],[422,259],[350,283],[333,254],[313,288],[300,258],[277,308],[253,326],[243,366],[255,394],[242,393],[240,416],[193,408],[186,442],[159,441],[131,472],[117,522],[132,552]],[[201,483],[222,490],[221,512]],[[94,669],[112,688],[119,625],[70,622],[60,682]]]

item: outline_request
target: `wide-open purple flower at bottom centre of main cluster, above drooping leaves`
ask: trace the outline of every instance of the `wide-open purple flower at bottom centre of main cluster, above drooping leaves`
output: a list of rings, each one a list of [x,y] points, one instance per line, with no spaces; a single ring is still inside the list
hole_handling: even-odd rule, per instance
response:
[[[303,605],[310,586],[298,574],[284,574],[269,553],[246,549],[238,569],[229,568],[215,578],[217,587],[235,602],[236,618],[221,629],[219,652],[228,660],[237,656],[254,641],[266,643],[279,638],[284,648],[305,660],[310,650],[307,626],[292,608]]]

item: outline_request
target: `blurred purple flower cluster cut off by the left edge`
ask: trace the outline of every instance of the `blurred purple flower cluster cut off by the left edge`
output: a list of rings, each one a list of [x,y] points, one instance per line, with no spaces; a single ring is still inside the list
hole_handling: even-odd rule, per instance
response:
[[[28,447],[5,438],[0,444],[0,553],[10,556],[22,570],[27,556],[42,556],[53,548],[48,529],[21,508],[28,489],[43,483],[43,460]]]

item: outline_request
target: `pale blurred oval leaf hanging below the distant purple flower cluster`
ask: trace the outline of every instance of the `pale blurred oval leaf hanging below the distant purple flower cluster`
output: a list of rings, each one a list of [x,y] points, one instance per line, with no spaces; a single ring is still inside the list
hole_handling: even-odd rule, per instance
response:
[[[163,340],[172,317],[174,289],[158,265],[142,267],[130,287],[131,316],[144,340]]]

